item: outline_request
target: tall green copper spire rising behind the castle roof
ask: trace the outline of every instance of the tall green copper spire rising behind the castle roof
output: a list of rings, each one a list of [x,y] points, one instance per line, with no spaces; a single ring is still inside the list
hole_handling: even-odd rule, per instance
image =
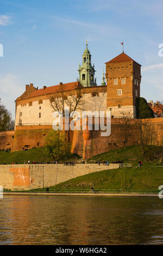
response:
[[[84,87],[97,86],[95,81],[95,66],[91,65],[91,53],[87,48],[83,52],[83,63],[79,65],[79,82]]]

